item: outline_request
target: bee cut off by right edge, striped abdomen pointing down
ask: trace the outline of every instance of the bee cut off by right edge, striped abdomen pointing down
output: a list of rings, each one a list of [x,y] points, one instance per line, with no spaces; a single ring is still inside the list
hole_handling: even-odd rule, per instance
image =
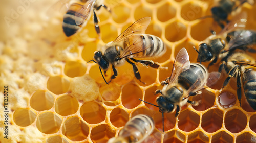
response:
[[[225,69],[228,77],[224,81],[220,92],[229,83],[232,77],[237,79],[237,94],[241,107],[242,88],[249,105],[256,110],[256,62],[245,52],[234,52],[227,56],[219,67],[221,72]]]

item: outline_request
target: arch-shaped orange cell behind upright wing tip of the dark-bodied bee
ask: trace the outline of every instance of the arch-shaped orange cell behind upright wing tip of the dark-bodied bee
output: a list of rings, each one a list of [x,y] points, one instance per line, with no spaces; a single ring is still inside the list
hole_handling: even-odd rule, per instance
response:
[[[187,53],[188,53],[188,55],[189,55],[189,61],[190,61],[190,63],[196,62],[196,61],[197,61],[197,55],[198,55],[198,53],[197,53],[196,50],[193,49],[193,46],[195,46],[194,43],[191,42],[191,41],[189,41],[189,40],[185,40],[184,42],[181,42],[181,43],[177,44],[177,45],[175,46],[175,53],[174,53],[174,54],[175,54],[175,57],[176,57],[176,55],[179,53],[179,51],[180,51],[183,47],[185,47],[186,50],[187,50]]]

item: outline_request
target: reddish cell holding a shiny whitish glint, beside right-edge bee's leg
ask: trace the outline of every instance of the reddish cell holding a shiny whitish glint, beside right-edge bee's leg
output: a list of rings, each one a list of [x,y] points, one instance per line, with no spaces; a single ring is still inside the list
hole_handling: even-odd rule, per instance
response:
[[[237,102],[237,97],[231,92],[221,92],[218,96],[218,102],[223,108],[230,108]]]

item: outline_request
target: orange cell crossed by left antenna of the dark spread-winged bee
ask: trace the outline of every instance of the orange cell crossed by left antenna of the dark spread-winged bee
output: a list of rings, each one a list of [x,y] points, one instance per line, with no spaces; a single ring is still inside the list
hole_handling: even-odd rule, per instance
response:
[[[147,88],[146,91],[145,91],[145,98],[144,98],[144,100],[146,102],[149,102],[149,103],[152,103],[154,105],[157,105],[156,98],[158,97],[158,95],[155,95],[156,90],[157,90],[157,86],[152,86],[150,88]],[[147,108],[150,108],[151,110],[154,110],[154,111],[158,111],[159,110],[158,107],[153,106],[151,104],[145,103],[145,105],[146,105]]]

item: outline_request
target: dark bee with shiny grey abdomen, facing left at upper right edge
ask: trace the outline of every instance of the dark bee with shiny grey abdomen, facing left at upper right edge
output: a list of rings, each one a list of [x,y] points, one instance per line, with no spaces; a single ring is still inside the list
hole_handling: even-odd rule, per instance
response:
[[[228,53],[242,49],[249,52],[256,52],[252,45],[256,44],[256,31],[239,29],[245,27],[246,19],[242,18],[229,23],[217,35],[211,35],[199,43],[198,62],[210,62],[209,66],[215,64],[218,59],[224,58]]]

